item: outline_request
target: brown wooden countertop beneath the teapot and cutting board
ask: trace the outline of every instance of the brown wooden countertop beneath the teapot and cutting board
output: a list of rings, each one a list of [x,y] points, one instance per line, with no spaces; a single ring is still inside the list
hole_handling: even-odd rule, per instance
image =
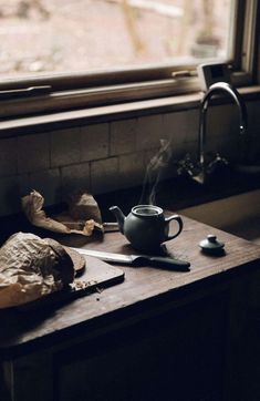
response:
[[[211,284],[225,284],[232,277],[260,268],[258,245],[187,217],[183,218],[183,233],[168,241],[167,248],[176,257],[190,261],[190,271],[122,267],[125,271],[124,282],[104,289],[101,294],[87,295],[49,310],[2,310],[0,359],[61,343],[76,336],[95,336],[127,319],[142,319],[144,313],[155,313],[158,308],[179,302],[194,290],[207,290]],[[200,251],[198,244],[208,234],[217,235],[226,244],[225,256],[208,256]],[[79,246],[79,237],[63,237],[63,243]],[[89,239],[84,247],[131,251],[121,233],[107,233],[103,238]]]

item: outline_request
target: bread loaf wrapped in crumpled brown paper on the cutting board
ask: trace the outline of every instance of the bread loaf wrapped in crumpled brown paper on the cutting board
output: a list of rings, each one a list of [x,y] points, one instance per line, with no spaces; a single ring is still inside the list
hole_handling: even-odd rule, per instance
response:
[[[0,308],[39,299],[73,279],[73,261],[53,239],[17,233],[0,248]]]

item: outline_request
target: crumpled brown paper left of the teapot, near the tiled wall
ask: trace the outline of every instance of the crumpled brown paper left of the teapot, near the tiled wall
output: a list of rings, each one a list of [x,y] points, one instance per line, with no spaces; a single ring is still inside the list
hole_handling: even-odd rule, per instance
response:
[[[53,233],[80,234],[87,237],[94,229],[103,232],[100,208],[93,196],[87,193],[72,195],[67,212],[53,217],[46,216],[43,210],[44,198],[34,189],[23,196],[21,203],[25,216],[33,226]]]

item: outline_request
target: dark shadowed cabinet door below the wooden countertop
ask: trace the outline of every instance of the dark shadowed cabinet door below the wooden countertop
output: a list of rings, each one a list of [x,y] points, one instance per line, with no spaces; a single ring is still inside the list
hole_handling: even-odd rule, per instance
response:
[[[207,298],[56,354],[54,399],[221,400],[227,311]]]

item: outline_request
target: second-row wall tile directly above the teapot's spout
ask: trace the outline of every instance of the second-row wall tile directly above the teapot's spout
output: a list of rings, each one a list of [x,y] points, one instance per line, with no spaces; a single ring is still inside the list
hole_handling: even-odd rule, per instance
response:
[[[92,194],[103,194],[118,188],[118,158],[111,157],[91,163]]]

